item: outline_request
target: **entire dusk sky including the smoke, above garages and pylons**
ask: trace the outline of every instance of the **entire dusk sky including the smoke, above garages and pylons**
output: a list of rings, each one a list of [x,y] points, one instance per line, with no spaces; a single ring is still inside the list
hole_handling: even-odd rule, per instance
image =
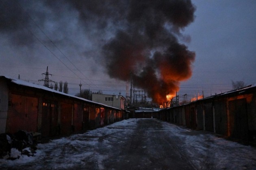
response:
[[[220,94],[256,83],[255,9],[255,0],[1,0],[0,75],[43,85],[48,66],[69,94],[81,81],[126,96],[133,71],[148,96]]]

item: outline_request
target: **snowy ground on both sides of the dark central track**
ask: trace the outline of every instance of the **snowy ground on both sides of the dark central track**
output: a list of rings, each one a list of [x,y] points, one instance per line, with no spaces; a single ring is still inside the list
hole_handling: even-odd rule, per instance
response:
[[[136,133],[139,120],[123,120],[85,134],[38,144],[35,157],[22,155],[13,161],[0,159],[0,169],[105,169],[104,162],[109,158],[109,153],[117,152],[114,149],[116,145],[126,142]],[[225,140],[214,134],[159,122],[165,135],[182,141],[177,146],[182,148],[183,154],[189,157],[195,169],[256,169],[254,147]]]

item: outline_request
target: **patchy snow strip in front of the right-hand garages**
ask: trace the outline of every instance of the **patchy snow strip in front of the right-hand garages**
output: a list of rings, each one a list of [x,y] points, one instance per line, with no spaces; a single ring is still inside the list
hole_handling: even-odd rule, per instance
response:
[[[182,147],[197,169],[256,170],[256,148],[232,142],[207,132],[182,129],[163,123],[166,130],[184,141]],[[205,166],[205,164],[208,164]]]

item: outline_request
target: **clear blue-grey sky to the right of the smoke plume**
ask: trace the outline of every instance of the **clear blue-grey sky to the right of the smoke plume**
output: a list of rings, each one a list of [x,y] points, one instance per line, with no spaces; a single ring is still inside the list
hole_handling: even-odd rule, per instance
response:
[[[180,94],[205,96],[232,89],[232,81],[256,83],[256,2],[195,0],[195,21],[185,29],[196,52],[191,79]],[[192,88],[193,87],[193,88]],[[196,91],[197,88],[197,91]]]

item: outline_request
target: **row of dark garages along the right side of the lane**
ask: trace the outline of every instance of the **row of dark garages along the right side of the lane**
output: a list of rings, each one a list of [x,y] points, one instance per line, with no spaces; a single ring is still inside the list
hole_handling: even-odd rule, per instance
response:
[[[158,119],[239,138],[256,140],[256,86],[228,91],[188,104],[166,108]]]

